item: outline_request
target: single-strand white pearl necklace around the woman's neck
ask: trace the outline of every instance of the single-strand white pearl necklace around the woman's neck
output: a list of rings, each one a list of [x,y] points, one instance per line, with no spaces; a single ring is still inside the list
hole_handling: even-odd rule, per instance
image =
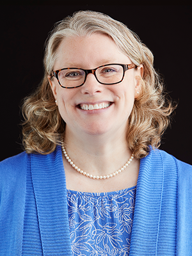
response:
[[[67,154],[67,150],[64,147],[64,143],[63,140],[61,141],[61,148],[63,150],[63,154],[65,156],[65,158],[67,159],[68,163],[70,163],[70,165],[79,173],[85,175],[86,177],[89,177],[90,179],[109,179],[112,177],[115,177],[118,173],[121,173],[123,170],[125,170],[125,168],[127,166],[129,166],[129,164],[131,164],[132,159],[134,159],[134,154],[131,155],[131,157],[129,158],[129,160],[127,161],[127,163],[124,164],[124,166],[122,166],[122,168],[120,168],[118,171],[111,173],[109,175],[104,175],[104,176],[95,176],[92,175],[90,173],[84,172],[83,170],[81,170],[76,164],[74,164],[74,162],[72,161],[72,159],[70,159],[70,157]]]

